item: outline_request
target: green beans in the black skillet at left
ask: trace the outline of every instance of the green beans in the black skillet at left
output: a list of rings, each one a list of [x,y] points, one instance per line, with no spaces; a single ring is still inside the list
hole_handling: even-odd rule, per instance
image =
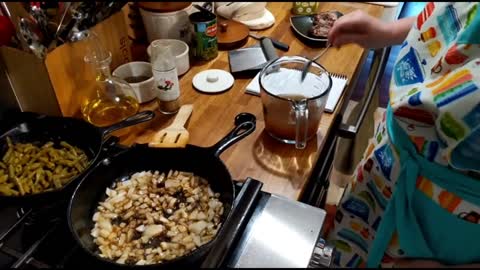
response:
[[[47,142],[38,147],[32,143],[12,143],[0,161],[0,194],[30,195],[59,189],[88,166],[81,149],[67,142],[57,147]]]

